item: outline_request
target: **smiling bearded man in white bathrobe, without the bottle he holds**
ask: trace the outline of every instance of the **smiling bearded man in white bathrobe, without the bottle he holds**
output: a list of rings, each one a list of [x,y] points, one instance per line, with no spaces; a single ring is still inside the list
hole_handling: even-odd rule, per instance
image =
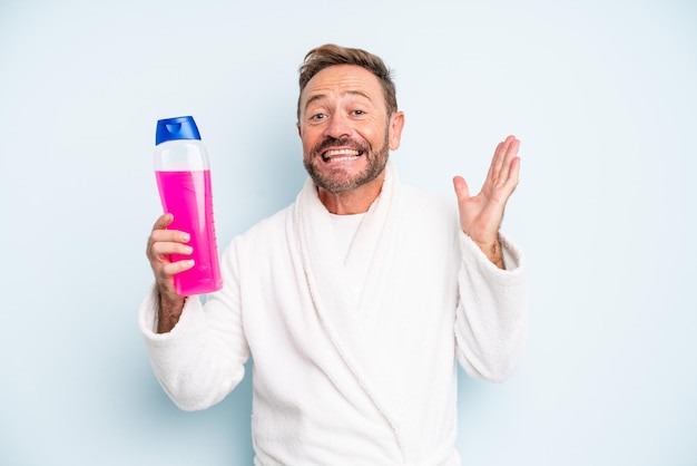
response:
[[[140,309],[155,373],[177,406],[205,409],[252,355],[256,465],[458,465],[455,360],[501,381],[527,333],[521,254],[499,233],[519,142],[499,144],[478,195],[455,177],[444,202],[389,162],[404,115],[380,58],[323,46],[300,82],[310,178],[233,240],[205,307],[174,291],[192,264],[167,258],[189,252],[186,234],[155,224]]]

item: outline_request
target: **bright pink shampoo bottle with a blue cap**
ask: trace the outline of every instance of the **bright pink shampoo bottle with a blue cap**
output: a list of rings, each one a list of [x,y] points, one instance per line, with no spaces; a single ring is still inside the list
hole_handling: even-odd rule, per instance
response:
[[[174,276],[181,297],[223,288],[213,221],[210,167],[200,134],[190,116],[160,119],[155,136],[155,177],[165,213],[174,215],[168,230],[190,235],[190,255],[173,254],[173,262],[193,259],[193,269]]]

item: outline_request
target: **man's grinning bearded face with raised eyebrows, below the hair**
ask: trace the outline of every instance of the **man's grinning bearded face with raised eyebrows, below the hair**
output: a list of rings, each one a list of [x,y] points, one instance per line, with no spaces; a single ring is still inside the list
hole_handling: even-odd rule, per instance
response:
[[[377,77],[354,65],[317,72],[300,100],[303,162],[317,186],[330,193],[374,181],[400,145],[403,115],[387,117]]]

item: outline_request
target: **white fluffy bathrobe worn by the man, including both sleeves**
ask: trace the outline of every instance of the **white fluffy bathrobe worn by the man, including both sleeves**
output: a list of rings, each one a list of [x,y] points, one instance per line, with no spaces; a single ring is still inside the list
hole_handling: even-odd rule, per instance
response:
[[[189,298],[166,334],[154,291],[140,328],[181,409],[220,401],[253,356],[257,466],[459,465],[455,360],[501,381],[527,334],[522,258],[501,241],[508,270],[462,233],[454,196],[404,186],[389,164],[343,258],[308,179],[233,240],[222,291]]]

